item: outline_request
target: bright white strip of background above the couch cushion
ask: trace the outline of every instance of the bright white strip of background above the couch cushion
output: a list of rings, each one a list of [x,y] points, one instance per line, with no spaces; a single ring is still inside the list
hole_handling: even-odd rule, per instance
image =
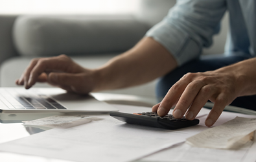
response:
[[[137,0],[1,0],[0,14],[132,14]]]

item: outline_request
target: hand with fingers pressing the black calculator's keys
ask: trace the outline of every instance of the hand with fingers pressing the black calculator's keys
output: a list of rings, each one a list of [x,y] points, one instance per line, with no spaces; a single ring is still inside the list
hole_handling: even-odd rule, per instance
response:
[[[164,116],[176,105],[172,112],[175,118],[180,119],[185,114],[186,119],[193,120],[207,100],[211,100],[215,104],[205,125],[212,126],[225,106],[240,95],[235,73],[232,68],[187,73],[169,89],[162,102],[153,106],[152,111]]]

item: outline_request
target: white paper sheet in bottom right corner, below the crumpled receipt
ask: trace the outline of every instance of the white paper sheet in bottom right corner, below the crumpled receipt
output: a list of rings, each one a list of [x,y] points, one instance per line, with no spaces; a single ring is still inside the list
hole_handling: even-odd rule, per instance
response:
[[[250,145],[248,145],[250,146]],[[255,157],[248,158],[251,148],[240,148],[238,150],[223,150],[215,148],[195,148],[185,143],[168,148],[152,156],[145,157],[141,161],[154,162],[255,162]],[[255,155],[252,153],[251,156]],[[247,160],[245,160],[247,158]],[[254,158],[254,160],[253,160]]]

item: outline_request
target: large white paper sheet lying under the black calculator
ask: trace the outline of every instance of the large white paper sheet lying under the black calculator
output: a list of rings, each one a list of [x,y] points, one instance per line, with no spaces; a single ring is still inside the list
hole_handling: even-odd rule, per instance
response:
[[[151,108],[117,106],[120,111],[134,113]],[[23,139],[0,145],[0,150],[73,161],[131,161],[185,141],[205,126],[180,130],[163,130],[125,124],[109,115],[103,120],[68,129],[54,128]]]

